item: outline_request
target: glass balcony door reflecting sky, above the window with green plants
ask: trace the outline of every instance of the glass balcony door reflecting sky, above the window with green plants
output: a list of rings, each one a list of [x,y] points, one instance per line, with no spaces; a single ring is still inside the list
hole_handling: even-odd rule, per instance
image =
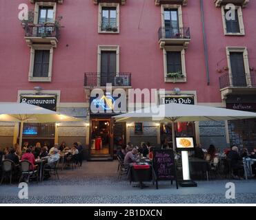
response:
[[[179,33],[179,16],[177,9],[164,10],[164,26],[166,31],[166,39],[175,38]]]

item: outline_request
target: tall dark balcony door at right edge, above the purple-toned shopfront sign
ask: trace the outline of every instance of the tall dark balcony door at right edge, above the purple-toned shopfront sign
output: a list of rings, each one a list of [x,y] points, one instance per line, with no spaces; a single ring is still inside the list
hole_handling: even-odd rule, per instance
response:
[[[230,53],[233,87],[246,87],[246,73],[244,69],[244,54],[241,52]]]

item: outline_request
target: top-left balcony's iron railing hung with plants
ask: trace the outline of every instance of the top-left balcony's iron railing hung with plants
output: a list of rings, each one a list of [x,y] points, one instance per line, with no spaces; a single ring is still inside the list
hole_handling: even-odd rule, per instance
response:
[[[54,37],[58,39],[59,36],[59,28],[55,25],[26,25],[25,26],[25,36],[26,37]]]

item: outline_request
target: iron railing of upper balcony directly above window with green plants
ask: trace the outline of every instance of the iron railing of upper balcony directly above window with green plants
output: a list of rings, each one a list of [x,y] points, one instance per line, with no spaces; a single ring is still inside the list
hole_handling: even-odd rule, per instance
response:
[[[161,27],[158,30],[160,39],[190,39],[189,28],[165,28]]]

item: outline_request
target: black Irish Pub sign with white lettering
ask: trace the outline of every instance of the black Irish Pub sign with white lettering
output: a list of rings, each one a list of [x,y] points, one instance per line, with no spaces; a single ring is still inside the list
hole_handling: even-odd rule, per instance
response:
[[[195,104],[194,96],[164,95],[159,97],[160,104]]]

